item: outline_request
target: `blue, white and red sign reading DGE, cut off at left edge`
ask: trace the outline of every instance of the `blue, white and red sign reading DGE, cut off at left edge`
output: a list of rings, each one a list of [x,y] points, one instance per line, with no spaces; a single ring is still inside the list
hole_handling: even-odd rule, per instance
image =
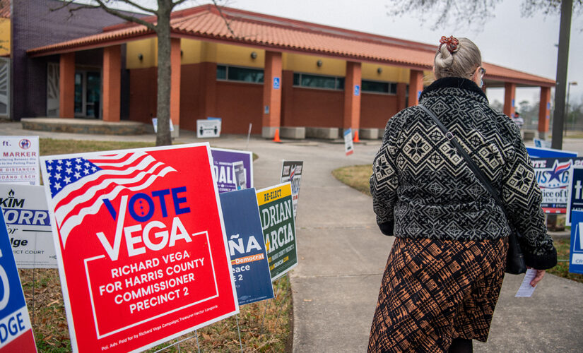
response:
[[[0,217],[0,282],[0,351],[36,352],[33,326],[3,217]]]

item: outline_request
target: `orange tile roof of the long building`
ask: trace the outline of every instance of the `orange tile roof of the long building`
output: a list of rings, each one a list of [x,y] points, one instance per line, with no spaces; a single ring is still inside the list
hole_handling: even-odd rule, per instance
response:
[[[143,19],[155,21],[154,17]],[[229,26],[226,23],[229,23]],[[247,44],[274,51],[319,54],[416,69],[430,69],[435,55],[434,45],[233,8],[221,8],[219,12],[212,5],[176,11],[172,13],[170,25],[173,37]],[[143,25],[122,23],[104,28],[104,32],[97,35],[29,49],[27,53],[30,56],[58,54],[92,47],[105,47],[113,43],[127,42],[136,37],[153,35],[155,33]],[[502,80],[519,85],[553,86],[555,84],[554,80],[510,68],[487,63],[483,66],[488,71],[485,76],[487,80]]]

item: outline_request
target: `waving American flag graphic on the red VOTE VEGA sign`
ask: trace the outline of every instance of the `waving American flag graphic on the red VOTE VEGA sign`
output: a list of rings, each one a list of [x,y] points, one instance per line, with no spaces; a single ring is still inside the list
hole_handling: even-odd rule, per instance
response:
[[[45,164],[63,246],[86,215],[98,213],[103,199],[113,201],[122,190],[146,189],[155,179],[176,172],[146,152],[47,160]]]

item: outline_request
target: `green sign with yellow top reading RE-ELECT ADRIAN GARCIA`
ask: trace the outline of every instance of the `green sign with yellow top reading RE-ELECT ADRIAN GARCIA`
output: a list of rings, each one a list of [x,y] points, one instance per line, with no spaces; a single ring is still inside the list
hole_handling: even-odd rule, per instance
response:
[[[291,195],[289,182],[257,191],[272,281],[298,265]]]

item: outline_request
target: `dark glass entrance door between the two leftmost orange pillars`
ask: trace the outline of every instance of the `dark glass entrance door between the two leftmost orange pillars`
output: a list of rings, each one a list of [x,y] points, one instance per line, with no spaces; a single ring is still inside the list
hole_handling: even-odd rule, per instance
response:
[[[100,118],[101,73],[75,72],[75,116]]]

